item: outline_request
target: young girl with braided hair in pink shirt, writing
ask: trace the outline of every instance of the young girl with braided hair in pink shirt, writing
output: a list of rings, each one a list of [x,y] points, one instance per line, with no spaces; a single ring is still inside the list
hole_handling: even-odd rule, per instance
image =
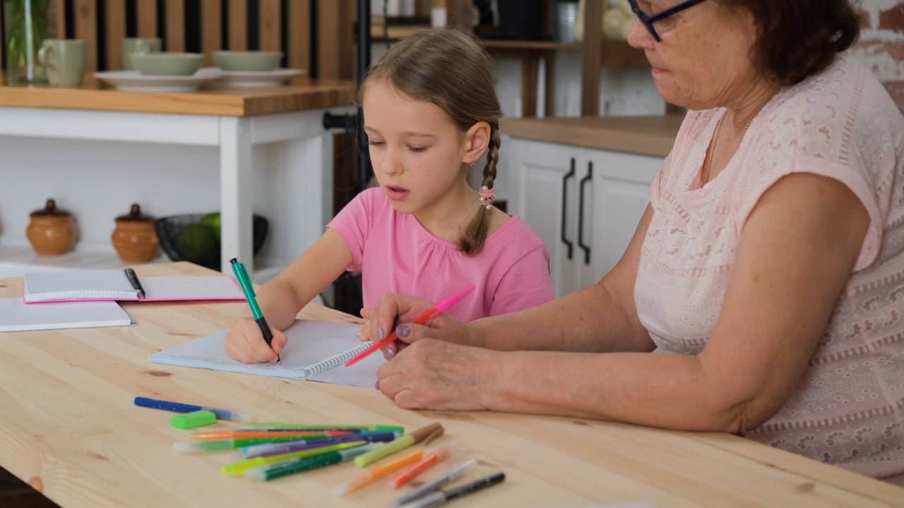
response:
[[[260,288],[272,348],[246,308],[226,335],[241,362],[276,362],[279,332],[344,270],[363,272],[363,304],[385,293],[440,301],[476,290],[449,309],[463,321],[553,299],[549,253],[525,222],[495,208],[499,118],[493,61],[466,33],[429,30],[392,45],[358,100],[379,187],[356,196],[324,236]],[[470,166],[487,152],[479,192]]]

